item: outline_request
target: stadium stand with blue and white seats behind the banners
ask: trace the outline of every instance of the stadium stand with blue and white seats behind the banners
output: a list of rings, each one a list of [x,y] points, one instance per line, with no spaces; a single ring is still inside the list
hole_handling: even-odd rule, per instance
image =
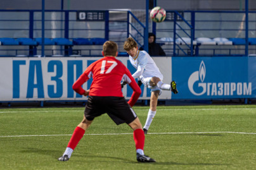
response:
[[[48,51],[46,52],[47,56],[58,54],[63,56],[97,56],[100,54],[99,51],[101,51],[99,46],[106,40],[117,42],[119,54],[127,56],[126,52],[122,49],[122,43],[125,38],[131,36],[138,41],[139,46],[140,44],[144,44],[145,27],[143,25],[143,11],[120,11],[119,14],[123,17],[122,19],[117,18],[116,14],[118,11],[113,11],[115,15],[112,14],[111,10],[104,11],[105,16],[108,18],[97,22],[86,21],[86,25],[84,25],[83,21],[78,21],[74,17],[77,12],[46,11],[49,16],[52,13],[70,16],[66,17],[65,20],[60,18],[61,15],[56,15],[54,16],[55,18],[46,18],[49,21],[46,22],[47,29],[45,37],[47,38],[44,39],[44,45],[46,46],[46,51]],[[3,18],[8,18],[10,13],[16,16],[21,12],[3,10],[1,14]],[[24,30],[14,28],[13,25],[6,25],[4,29],[0,28],[0,37],[3,37],[0,39],[0,56],[40,55],[42,45],[42,39],[40,37],[41,28],[37,26],[37,23],[41,21],[41,18],[34,15],[34,13],[38,13],[35,10],[24,10],[22,13],[27,13],[27,15],[22,16],[18,20],[23,25],[22,28]],[[193,13],[196,15],[192,15]],[[250,13],[255,15],[253,11],[250,11]],[[238,29],[239,27],[237,27],[239,23],[244,22],[241,20],[243,13],[239,11],[183,11],[181,15],[177,11],[167,11],[167,14],[169,16],[177,16],[179,20],[174,21],[173,18],[167,18],[158,24],[161,27],[151,26],[150,23],[148,30],[149,32],[155,32],[158,37],[157,42],[162,45],[164,51],[167,51],[167,56],[196,56],[198,54],[198,48],[200,48],[201,52],[202,49],[205,51],[200,53],[200,55],[215,56],[214,52],[206,52],[207,48],[208,51],[217,51],[219,49],[223,51],[224,47],[222,46],[232,51],[229,52],[230,55],[244,55],[246,46],[245,28]],[[216,18],[219,15],[221,18]],[[223,24],[233,20],[232,18],[226,17],[229,15],[236,18],[236,22],[233,22],[231,25]],[[9,22],[12,20],[17,21],[16,18],[8,18],[4,19],[3,23],[6,23],[8,20]],[[54,28],[49,27],[51,23],[57,20],[61,24],[56,24]],[[151,20],[149,21],[151,22]],[[28,22],[30,25],[27,24]],[[63,27],[62,25],[72,25],[72,27]],[[175,28],[174,25],[176,25]],[[251,34],[254,30],[254,26],[252,27],[252,25],[249,32],[248,45],[250,46],[250,51],[255,51],[256,46],[253,45],[256,45],[256,37],[254,34]],[[176,43],[174,43],[174,39]],[[29,46],[29,49],[25,46]],[[10,51],[15,52],[10,53]],[[29,51],[29,54],[24,51]]]

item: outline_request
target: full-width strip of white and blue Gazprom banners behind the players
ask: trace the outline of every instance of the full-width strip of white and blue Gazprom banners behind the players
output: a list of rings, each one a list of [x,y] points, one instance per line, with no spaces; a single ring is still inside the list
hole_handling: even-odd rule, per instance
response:
[[[99,58],[0,58],[0,101],[86,100],[72,89],[75,80]],[[134,73],[129,59],[118,58]],[[163,90],[159,99],[256,98],[255,57],[155,57],[163,82],[177,82],[179,93]],[[90,79],[83,85],[91,86]],[[141,86],[139,99],[150,99]],[[132,89],[126,85],[126,99]]]

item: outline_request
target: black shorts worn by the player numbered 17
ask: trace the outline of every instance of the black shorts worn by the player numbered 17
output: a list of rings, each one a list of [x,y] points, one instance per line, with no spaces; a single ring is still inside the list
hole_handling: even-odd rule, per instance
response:
[[[137,118],[132,107],[127,104],[124,97],[98,97],[89,96],[84,110],[84,116],[89,121],[107,113],[108,116],[118,125],[122,123],[131,123]]]

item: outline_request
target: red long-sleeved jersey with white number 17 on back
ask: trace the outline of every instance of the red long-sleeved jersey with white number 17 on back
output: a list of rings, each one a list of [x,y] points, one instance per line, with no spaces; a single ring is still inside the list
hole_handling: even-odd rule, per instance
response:
[[[141,88],[137,85],[131,72],[123,63],[112,56],[99,59],[87,67],[86,71],[80,75],[73,85],[75,92],[83,95],[85,90],[81,86],[91,77],[93,78],[89,92],[91,96],[123,97],[122,87],[120,85],[122,79],[124,79],[133,90],[132,97],[128,102],[130,106],[136,103],[141,94]]]

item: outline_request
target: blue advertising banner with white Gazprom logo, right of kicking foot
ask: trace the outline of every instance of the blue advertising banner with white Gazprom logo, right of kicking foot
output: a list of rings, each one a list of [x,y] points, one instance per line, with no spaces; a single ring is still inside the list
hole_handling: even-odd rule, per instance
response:
[[[172,99],[232,99],[256,96],[256,59],[246,57],[172,58],[179,94]]]

